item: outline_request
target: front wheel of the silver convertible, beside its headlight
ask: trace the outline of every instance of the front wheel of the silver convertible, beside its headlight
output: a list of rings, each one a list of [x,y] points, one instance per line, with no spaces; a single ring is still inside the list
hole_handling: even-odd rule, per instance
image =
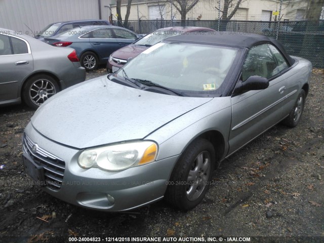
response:
[[[178,160],[170,177],[165,199],[183,211],[203,200],[215,168],[215,150],[206,139],[193,141]]]

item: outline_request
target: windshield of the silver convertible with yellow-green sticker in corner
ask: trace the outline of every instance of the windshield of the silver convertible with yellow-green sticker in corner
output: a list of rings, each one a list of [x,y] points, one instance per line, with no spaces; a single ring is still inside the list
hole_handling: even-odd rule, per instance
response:
[[[186,96],[221,94],[238,49],[188,43],[158,43],[122,69],[117,77],[152,83]],[[223,86],[224,87],[224,86]]]

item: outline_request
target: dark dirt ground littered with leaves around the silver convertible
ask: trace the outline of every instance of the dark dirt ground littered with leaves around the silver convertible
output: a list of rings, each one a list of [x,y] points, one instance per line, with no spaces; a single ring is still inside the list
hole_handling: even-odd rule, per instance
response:
[[[105,74],[100,69],[87,78]],[[299,126],[277,125],[226,159],[203,203],[186,213],[163,200],[102,213],[43,192],[21,164],[21,137],[33,113],[24,105],[0,108],[0,242],[69,242],[71,236],[324,242],[324,70],[313,70]]]

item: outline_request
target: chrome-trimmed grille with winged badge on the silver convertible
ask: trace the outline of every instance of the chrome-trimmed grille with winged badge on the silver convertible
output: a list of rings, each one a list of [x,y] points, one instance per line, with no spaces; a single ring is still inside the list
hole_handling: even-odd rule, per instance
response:
[[[28,153],[34,163],[44,168],[47,187],[59,190],[65,170],[64,160],[38,147],[26,134],[23,136],[23,152]]]

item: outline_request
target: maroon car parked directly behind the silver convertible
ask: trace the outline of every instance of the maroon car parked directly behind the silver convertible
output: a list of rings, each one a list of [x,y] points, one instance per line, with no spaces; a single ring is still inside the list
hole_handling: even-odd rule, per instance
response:
[[[113,52],[107,63],[107,71],[115,72],[120,67],[125,65],[129,58],[138,56],[140,53],[144,52],[147,48],[155,45],[156,43],[163,41],[165,38],[185,34],[188,32],[216,32],[214,29],[203,28],[203,27],[167,27],[162,29],[157,29],[151,33],[140,38],[133,44],[120,48]]]

